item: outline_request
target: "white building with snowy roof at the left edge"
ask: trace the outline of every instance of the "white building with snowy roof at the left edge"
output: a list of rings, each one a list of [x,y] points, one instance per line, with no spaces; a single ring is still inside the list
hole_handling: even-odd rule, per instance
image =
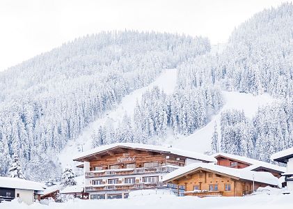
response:
[[[45,185],[21,178],[0,177],[0,201],[11,201],[18,198],[30,205],[40,199],[40,192]]]

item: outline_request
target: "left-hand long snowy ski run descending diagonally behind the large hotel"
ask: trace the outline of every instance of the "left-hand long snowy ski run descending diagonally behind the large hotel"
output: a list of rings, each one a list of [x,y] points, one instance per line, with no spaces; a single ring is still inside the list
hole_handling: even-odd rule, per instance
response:
[[[148,89],[151,89],[154,86],[158,86],[161,90],[164,90],[165,93],[171,94],[175,89],[176,82],[177,70],[164,70],[161,75],[157,77],[155,82],[152,82],[150,85],[143,88],[138,88],[129,95],[126,95],[115,109],[106,112],[102,118],[97,118],[97,120],[93,121],[93,123],[90,123],[77,139],[68,141],[67,146],[59,155],[61,166],[63,168],[72,167],[74,165],[72,158],[81,151],[81,147],[83,150],[89,150],[91,148],[90,136],[93,134],[94,130],[97,129],[97,127],[105,123],[111,123],[113,127],[116,127],[120,121],[122,121],[125,112],[128,116],[133,116],[136,100],[140,101],[145,91],[148,91]]]

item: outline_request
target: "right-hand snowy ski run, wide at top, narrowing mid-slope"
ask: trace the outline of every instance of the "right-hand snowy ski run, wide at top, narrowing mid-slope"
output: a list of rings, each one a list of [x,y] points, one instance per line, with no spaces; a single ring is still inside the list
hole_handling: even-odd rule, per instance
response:
[[[168,139],[166,139],[166,142],[168,142],[168,144],[172,144],[173,147],[176,148],[204,153],[205,151],[210,150],[215,123],[218,125],[218,133],[220,133],[222,111],[227,109],[243,109],[246,117],[253,118],[258,110],[258,107],[275,101],[274,98],[271,98],[271,96],[267,94],[254,96],[251,93],[239,93],[235,91],[222,91],[222,93],[225,104],[223,105],[221,111],[219,111],[219,114],[213,116],[212,120],[207,123],[205,127],[202,127],[200,130],[197,130],[187,137],[179,136],[175,139],[175,137],[171,135]]]

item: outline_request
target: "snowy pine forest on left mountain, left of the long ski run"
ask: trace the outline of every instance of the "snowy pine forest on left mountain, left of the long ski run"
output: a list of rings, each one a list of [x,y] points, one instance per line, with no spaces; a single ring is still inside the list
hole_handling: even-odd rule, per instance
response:
[[[209,49],[207,38],[113,31],[68,42],[1,72],[0,174],[7,175],[17,155],[27,178],[60,176],[56,153],[68,140],[161,70]]]

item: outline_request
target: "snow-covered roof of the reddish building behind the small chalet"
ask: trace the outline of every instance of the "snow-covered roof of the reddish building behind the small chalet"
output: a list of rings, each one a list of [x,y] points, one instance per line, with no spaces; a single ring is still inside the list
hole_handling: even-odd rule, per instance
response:
[[[270,170],[274,170],[274,171],[279,171],[280,173],[283,173],[286,171],[286,168],[285,167],[280,167],[276,164],[271,164],[271,163],[268,163],[268,162],[263,162],[263,161],[260,161],[260,160],[255,160],[255,159],[251,159],[251,158],[248,158],[248,157],[243,157],[243,156],[239,156],[239,155],[232,155],[232,154],[228,154],[228,153],[216,153],[214,155],[212,155],[213,157],[218,157],[218,156],[223,156],[223,157],[227,157],[229,159],[232,159],[232,160],[237,160],[237,161],[240,161],[240,162],[246,162],[248,164],[250,164],[249,167],[246,167],[245,169],[248,169],[248,170],[255,170],[255,169],[258,169],[260,167],[262,168],[265,168],[265,169],[270,169]]]

